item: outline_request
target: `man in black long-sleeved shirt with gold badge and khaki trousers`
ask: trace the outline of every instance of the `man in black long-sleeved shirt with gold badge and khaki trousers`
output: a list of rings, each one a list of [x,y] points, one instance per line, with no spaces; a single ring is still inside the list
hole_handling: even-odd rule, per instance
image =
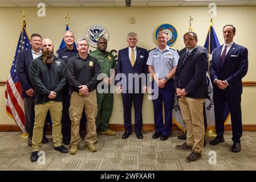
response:
[[[71,119],[71,148],[70,154],[78,152],[81,141],[79,124],[85,107],[87,119],[86,146],[91,152],[97,151],[94,143],[97,141],[95,118],[97,115],[96,86],[97,76],[100,74],[100,64],[95,57],[88,54],[89,45],[86,39],[77,42],[78,54],[67,64],[67,79],[71,86],[70,119]]]

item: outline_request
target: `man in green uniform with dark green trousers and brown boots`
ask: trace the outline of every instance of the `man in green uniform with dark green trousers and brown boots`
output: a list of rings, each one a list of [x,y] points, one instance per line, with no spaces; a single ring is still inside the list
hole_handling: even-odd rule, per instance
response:
[[[102,77],[101,80],[104,84],[108,85],[107,93],[97,92],[96,130],[100,126],[101,135],[114,136],[116,132],[109,129],[109,118],[113,110],[113,93],[110,93],[110,85],[112,85],[113,79],[115,79],[114,69],[116,69],[116,61],[112,53],[107,52],[106,49],[107,39],[101,37],[97,40],[97,49],[90,53],[90,56],[95,57],[99,61],[101,73],[107,74],[107,77]]]

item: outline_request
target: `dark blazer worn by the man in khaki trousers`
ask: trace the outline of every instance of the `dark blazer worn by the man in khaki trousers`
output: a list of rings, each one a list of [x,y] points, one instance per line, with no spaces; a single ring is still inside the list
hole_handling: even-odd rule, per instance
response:
[[[174,76],[174,87],[184,89],[190,98],[206,98],[207,85],[205,75],[208,71],[208,56],[198,47],[195,48],[182,64],[186,52],[178,59]],[[180,85],[179,85],[180,84]]]

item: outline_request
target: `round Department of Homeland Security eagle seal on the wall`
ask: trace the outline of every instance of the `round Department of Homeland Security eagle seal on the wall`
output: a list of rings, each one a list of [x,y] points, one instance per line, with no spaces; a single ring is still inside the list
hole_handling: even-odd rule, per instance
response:
[[[97,39],[101,36],[108,40],[108,31],[101,24],[92,24],[86,30],[86,40],[91,47],[97,47]]]

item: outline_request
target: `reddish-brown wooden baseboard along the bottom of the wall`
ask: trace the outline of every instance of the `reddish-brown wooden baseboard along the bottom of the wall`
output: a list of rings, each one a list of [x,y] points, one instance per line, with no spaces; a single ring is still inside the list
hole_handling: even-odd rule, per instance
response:
[[[119,124],[110,124],[109,129],[113,131],[124,131],[124,125]],[[51,131],[51,128],[48,127],[48,130]],[[82,131],[86,130],[86,127],[81,128]],[[155,131],[155,125],[154,124],[145,124],[142,128],[143,131]],[[173,131],[181,131],[176,125],[172,126]],[[232,126],[226,125],[225,131],[231,131]],[[0,132],[2,131],[21,131],[17,125],[0,125]],[[243,131],[256,131],[256,125],[243,125]]]

